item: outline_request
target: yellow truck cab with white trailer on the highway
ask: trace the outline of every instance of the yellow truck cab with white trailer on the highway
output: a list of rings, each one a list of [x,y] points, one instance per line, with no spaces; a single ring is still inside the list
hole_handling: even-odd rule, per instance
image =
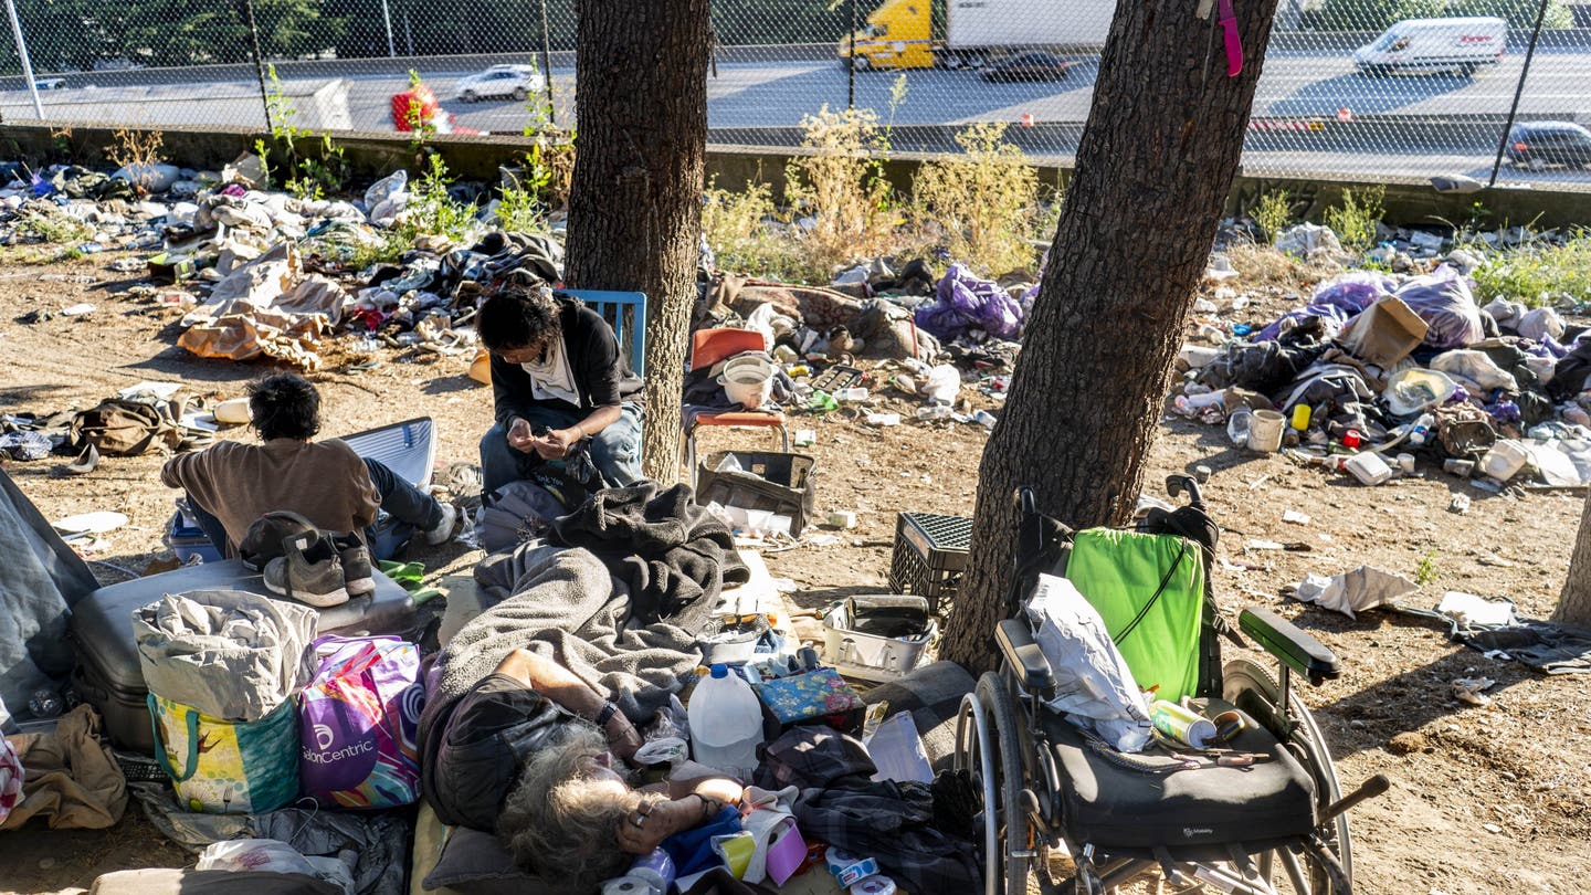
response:
[[[867,25],[840,38],[840,59],[856,45],[856,68],[959,68],[1020,49],[1098,49],[1115,0],[945,0],[936,40],[932,0],[886,0]]]

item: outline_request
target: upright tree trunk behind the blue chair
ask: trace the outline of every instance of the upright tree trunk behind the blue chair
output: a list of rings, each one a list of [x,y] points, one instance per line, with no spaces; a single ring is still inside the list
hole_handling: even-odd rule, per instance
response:
[[[644,291],[648,478],[679,475],[702,239],[708,0],[579,0],[579,127],[565,280]]]

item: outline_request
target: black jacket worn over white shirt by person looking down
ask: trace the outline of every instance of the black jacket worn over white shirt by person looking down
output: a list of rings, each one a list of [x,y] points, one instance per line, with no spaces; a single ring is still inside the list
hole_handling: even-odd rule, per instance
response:
[[[492,355],[492,398],[496,422],[508,425],[531,406],[543,405],[563,411],[592,411],[620,403],[641,403],[641,377],[619,354],[613,326],[579,301],[558,299],[558,323],[563,328],[563,355],[570,362],[581,405],[557,398],[536,398],[530,374],[517,363]],[[644,325],[644,322],[636,322]]]

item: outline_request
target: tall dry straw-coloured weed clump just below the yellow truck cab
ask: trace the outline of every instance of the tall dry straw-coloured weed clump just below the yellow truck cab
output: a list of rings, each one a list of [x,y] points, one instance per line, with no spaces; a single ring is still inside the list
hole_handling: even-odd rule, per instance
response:
[[[872,156],[881,150],[878,113],[824,105],[802,118],[802,131],[810,154],[786,167],[784,196],[808,218],[802,236],[808,268],[826,279],[845,261],[885,255],[897,215],[889,180]]]

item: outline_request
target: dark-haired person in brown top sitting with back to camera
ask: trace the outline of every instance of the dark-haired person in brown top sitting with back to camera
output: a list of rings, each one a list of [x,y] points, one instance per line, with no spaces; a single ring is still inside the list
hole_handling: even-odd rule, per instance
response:
[[[263,444],[216,441],[161,468],[167,487],[188,492],[193,514],[223,556],[234,556],[248,527],[278,510],[298,513],[317,529],[369,540],[364,529],[385,508],[423,532],[426,543],[452,537],[458,521],[452,505],[336,438],[312,441],[320,432],[320,392],[304,377],[282,373],[256,379],[248,385],[248,411]],[[348,584],[361,591],[364,583]]]

